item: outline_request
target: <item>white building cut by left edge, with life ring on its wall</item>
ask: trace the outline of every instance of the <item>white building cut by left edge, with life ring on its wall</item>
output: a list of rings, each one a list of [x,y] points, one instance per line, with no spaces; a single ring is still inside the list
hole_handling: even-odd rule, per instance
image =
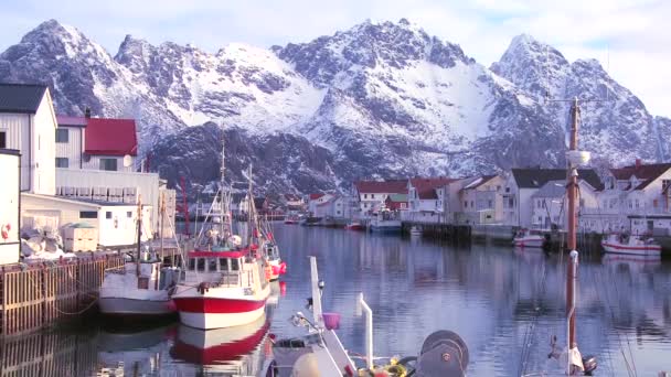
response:
[[[21,219],[21,154],[18,150],[0,149],[0,265],[15,263],[21,252],[19,235]]]

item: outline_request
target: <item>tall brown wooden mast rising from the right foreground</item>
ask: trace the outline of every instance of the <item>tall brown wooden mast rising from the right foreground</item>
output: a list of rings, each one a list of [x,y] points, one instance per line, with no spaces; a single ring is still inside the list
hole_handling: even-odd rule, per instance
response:
[[[578,106],[578,99],[573,99],[571,107],[571,141],[569,151],[577,151],[578,149],[578,118],[581,109]],[[575,152],[574,152],[575,153]],[[568,229],[567,229],[567,246],[571,251],[567,267],[566,278],[566,315],[568,317],[568,351],[577,347],[575,342],[575,284],[577,279],[577,229],[576,229],[576,201],[578,195],[578,172],[576,164],[573,161],[568,161],[568,177],[566,184],[566,195],[568,196],[568,209],[566,215],[568,216]]]

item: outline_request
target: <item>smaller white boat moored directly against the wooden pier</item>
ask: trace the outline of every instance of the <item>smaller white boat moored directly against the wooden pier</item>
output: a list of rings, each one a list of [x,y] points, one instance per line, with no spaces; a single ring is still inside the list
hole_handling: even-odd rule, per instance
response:
[[[117,317],[142,317],[175,314],[170,298],[180,269],[163,267],[158,252],[142,250],[142,205],[138,201],[137,254],[127,256],[120,268],[105,271],[98,306],[100,313]]]

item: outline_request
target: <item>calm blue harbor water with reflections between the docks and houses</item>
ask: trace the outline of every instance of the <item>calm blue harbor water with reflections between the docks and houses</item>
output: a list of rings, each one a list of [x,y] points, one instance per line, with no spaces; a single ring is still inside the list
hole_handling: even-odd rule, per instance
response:
[[[356,315],[363,292],[377,356],[416,355],[432,332],[451,330],[468,344],[469,376],[556,370],[547,355],[552,336],[560,346],[566,337],[565,256],[283,224],[275,237],[288,272],[274,286],[268,323],[205,333],[93,317],[4,338],[0,376],[256,375],[271,353],[268,334],[303,334],[289,317],[308,313],[311,255],[326,282],[324,311],[341,315],[338,334],[353,353],[364,351],[364,319]],[[578,279],[578,347],[596,355],[596,375],[671,370],[671,265],[582,255]]]

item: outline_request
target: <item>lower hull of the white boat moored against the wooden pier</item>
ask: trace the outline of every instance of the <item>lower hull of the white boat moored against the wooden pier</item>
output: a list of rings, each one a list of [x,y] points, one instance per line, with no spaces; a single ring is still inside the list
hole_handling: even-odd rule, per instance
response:
[[[138,300],[104,298],[98,300],[100,313],[110,316],[163,316],[177,313],[172,300]]]

